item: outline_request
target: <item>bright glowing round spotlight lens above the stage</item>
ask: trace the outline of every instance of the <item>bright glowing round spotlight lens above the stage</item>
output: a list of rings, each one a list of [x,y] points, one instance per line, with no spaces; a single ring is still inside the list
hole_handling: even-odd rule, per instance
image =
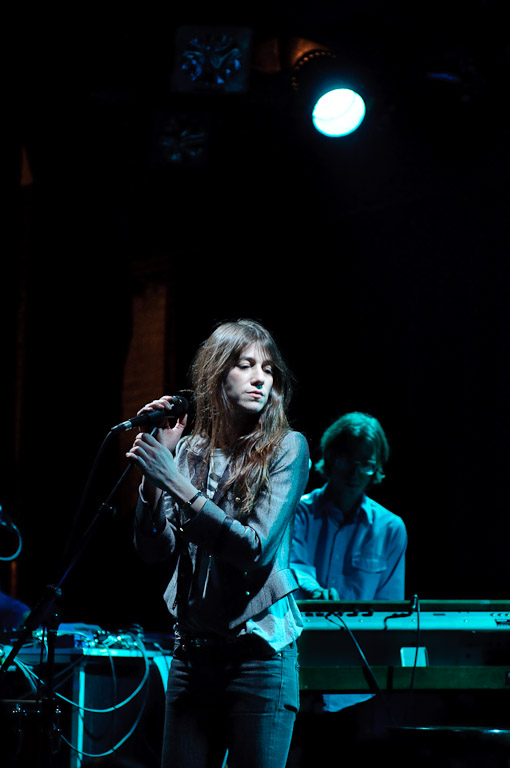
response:
[[[358,93],[348,88],[336,88],[317,101],[312,121],[325,136],[347,136],[360,126],[365,111],[365,102]]]

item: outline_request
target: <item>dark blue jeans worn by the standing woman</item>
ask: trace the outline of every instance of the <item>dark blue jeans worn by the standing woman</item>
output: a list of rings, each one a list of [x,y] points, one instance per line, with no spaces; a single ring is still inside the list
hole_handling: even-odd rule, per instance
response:
[[[271,655],[249,642],[241,650],[177,648],[162,768],[221,768],[227,749],[228,768],[285,768],[299,709],[298,671],[295,643]]]

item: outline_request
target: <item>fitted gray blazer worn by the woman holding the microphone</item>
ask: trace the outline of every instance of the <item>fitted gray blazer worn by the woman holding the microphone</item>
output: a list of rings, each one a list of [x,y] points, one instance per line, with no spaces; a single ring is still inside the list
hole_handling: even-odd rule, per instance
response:
[[[189,438],[179,443],[175,461],[185,477],[196,481],[201,455],[190,447]],[[270,460],[270,489],[259,495],[245,522],[236,519],[241,500],[231,487],[225,488],[228,467],[214,498],[184,524],[178,505],[163,493],[165,528],[150,535],[135,526],[135,546],[147,562],[169,565],[172,575],[164,599],[174,619],[185,613],[204,556],[213,570],[203,602],[218,632],[235,630],[297,589],[289,555],[294,512],[308,472],[307,441],[301,433],[289,432]]]

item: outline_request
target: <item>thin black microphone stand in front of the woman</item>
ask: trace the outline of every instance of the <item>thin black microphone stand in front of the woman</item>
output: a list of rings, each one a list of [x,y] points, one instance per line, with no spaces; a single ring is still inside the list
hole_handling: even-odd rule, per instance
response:
[[[157,427],[155,427],[152,430],[151,434],[155,435],[156,432],[157,432]],[[113,434],[115,434],[114,431],[110,430],[105,440],[103,441],[103,446],[100,450],[100,453],[102,452],[102,449],[104,448],[107,441]],[[93,467],[95,467],[97,463],[98,462],[96,458],[96,461]],[[14,645],[12,646],[10,653],[4,659],[2,665],[0,666],[0,686],[1,686],[2,681],[7,672],[7,669],[9,668],[12,661],[18,655],[22,646],[27,642],[29,637],[37,628],[39,627],[43,628],[43,631],[45,632],[47,637],[48,651],[47,651],[47,661],[46,661],[46,670],[47,670],[46,681],[42,688],[42,696],[41,696],[41,719],[42,719],[42,745],[40,750],[41,768],[51,768],[52,756],[56,752],[56,748],[54,748],[55,737],[58,734],[57,718],[56,718],[57,707],[56,707],[56,700],[55,700],[56,697],[55,697],[54,682],[53,682],[53,675],[54,675],[54,668],[55,668],[55,641],[57,637],[58,626],[60,623],[60,617],[59,617],[56,603],[58,598],[61,597],[62,595],[62,585],[64,584],[64,581],[66,580],[68,575],[71,573],[73,568],[81,559],[81,556],[85,551],[85,549],[87,548],[89,542],[93,538],[93,535],[99,523],[101,522],[101,520],[106,514],[109,513],[113,515],[113,513],[115,512],[113,501],[133,466],[134,466],[133,464],[128,464],[128,466],[125,468],[122,475],[117,480],[114,487],[108,494],[105,501],[102,504],[100,504],[94,517],[92,518],[92,521],[90,522],[88,528],[86,529],[84,535],[82,536],[79,545],[76,547],[74,555],[71,557],[69,564],[67,565],[67,567],[64,568],[60,579],[57,581],[56,584],[46,585],[39,602],[31,610],[21,629],[18,632],[16,632],[17,639]],[[87,485],[90,485],[90,479]]]

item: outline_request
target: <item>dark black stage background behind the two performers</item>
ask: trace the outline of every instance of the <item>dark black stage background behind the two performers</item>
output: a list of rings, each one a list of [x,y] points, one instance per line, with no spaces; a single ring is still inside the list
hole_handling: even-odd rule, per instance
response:
[[[375,498],[408,528],[407,595],[508,596],[505,6],[89,7],[16,25],[0,503],[23,536],[21,599],[62,573],[69,536],[124,469],[110,445],[77,523],[104,436],[134,415],[121,409],[132,299],[151,281],[171,305],[166,391],[187,386],[215,322],[260,319],[296,375],[292,423],[314,458],[341,413],[382,422],[392,453]],[[253,67],[243,94],[173,93],[183,23],[250,27],[254,48],[329,46],[365,78],[364,123],[314,132],[285,66]],[[175,108],[206,115],[202,165],[154,159],[158,115]],[[65,580],[62,620],[165,626],[166,574],[133,553],[131,501]],[[7,590],[7,566],[0,579]]]

